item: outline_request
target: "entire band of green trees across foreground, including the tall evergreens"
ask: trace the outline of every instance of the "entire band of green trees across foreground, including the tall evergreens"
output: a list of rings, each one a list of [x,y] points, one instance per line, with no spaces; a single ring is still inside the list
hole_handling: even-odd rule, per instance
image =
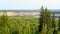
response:
[[[60,34],[60,17],[56,20],[55,14],[43,6],[40,18],[9,17],[4,12],[0,16],[0,34]]]

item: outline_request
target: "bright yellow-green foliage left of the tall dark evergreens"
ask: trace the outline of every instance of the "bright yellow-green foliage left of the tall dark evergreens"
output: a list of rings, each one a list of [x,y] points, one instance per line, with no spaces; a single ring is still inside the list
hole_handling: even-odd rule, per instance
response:
[[[38,18],[0,16],[0,34],[38,34]]]

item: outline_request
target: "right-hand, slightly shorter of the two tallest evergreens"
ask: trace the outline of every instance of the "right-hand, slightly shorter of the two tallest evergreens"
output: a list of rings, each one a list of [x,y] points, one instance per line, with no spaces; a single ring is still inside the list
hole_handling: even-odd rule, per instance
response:
[[[45,8],[45,21],[46,21],[46,25],[47,25],[47,34],[51,34],[51,26],[52,26],[52,22],[51,22],[51,12]]]

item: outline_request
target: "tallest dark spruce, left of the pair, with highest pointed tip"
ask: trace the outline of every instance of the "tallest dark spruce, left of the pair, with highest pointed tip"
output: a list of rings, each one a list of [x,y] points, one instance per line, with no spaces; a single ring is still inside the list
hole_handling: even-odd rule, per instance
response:
[[[45,9],[41,8],[41,12],[40,12],[40,25],[39,25],[39,31],[41,32],[41,34],[46,34],[46,19],[45,19]]]

